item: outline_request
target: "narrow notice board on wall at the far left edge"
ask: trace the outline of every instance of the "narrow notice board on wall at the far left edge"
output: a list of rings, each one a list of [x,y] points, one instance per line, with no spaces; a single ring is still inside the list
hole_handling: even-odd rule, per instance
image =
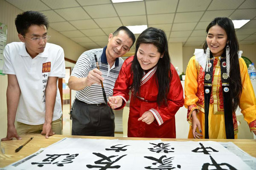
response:
[[[7,26],[0,23],[0,75],[3,74],[3,49],[7,41]]]

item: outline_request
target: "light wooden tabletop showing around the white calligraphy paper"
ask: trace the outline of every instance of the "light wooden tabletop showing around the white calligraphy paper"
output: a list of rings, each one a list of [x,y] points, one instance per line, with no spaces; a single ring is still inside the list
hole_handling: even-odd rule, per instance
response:
[[[123,138],[123,137],[102,137],[102,136],[73,136],[73,135],[53,135],[46,139],[41,134],[26,134],[20,136],[22,140],[2,141],[1,148],[5,148],[5,154],[0,153],[0,167],[6,167],[16,161],[19,161],[26,156],[35,153],[40,148],[48,147],[65,137],[68,138],[90,138],[90,139],[120,139],[120,140],[155,140],[157,138]],[[24,144],[29,138],[34,137],[32,141],[26,144],[19,152],[15,153],[15,149]],[[174,139],[160,138],[163,141],[217,141],[217,142],[233,142],[242,150],[256,157],[256,140],[255,139]]]

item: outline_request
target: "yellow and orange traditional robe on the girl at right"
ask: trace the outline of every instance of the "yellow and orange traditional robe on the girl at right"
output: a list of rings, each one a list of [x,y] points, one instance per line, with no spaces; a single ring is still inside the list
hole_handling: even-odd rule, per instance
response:
[[[195,52],[195,56],[188,63],[184,105],[188,108],[187,121],[190,125],[192,125],[192,111],[196,109],[197,117],[201,123],[202,138],[204,138],[204,71],[202,66],[204,66],[205,55],[202,52]],[[220,57],[215,57],[208,117],[209,138],[226,138],[220,64]],[[250,130],[256,130],[256,99],[253,86],[247,73],[247,66],[242,58],[239,58],[239,65],[243,86],[239,107],[244,115],[244,120],[249,124]],[[233,127],[235,138],[237,138],[238,125],[235,112],[233,112]],[[188,138],[193,138],[192,126],[189,127]]]

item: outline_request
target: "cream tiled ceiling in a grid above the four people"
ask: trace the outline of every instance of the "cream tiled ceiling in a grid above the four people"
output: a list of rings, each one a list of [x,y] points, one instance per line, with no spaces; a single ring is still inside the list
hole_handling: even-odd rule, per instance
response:
[[[206,38],[205,29],[215,17],[250,19],[246,25],[236,29],[236,35],[240,44],[256,44],[256,0],[6,1],[22,11],[44,13],[51,28],[86,49],[104,47],[108,43],[108,35],[122,25],[157,27],[166,32],[169,43],[201,46]]]

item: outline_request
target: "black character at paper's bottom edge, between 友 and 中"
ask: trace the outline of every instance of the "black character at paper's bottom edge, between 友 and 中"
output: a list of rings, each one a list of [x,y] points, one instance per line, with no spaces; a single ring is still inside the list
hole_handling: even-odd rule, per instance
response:
[[[148,170],[173,170],[176,169],[176,167],[173,166],[172,160],[174,157],[168,158],[167,156],[161,156],[159,159],[154,158],[152,156],[144,156],[144,158],[151,159],[153,161],[156,161],[153,164],[153,166],[145,167],[145,169]],[[180,165],[177,165],[177,168],[180,168]]]

